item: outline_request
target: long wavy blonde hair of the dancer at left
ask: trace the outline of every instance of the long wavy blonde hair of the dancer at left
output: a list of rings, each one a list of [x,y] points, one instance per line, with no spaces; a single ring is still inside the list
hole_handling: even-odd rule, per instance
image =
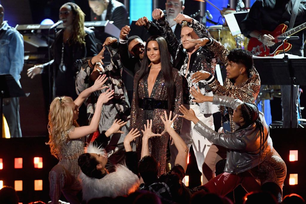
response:
[[[62,96],[56,97],[50,104],[49,111],[49,142],[51,154],[58,158],[58,152],[63,143],[62,133],[67,134],[67,130],[72,125],[78,127],[76,121],[73,121],[73,109],[71,107],[73,100],[71,97]]]

